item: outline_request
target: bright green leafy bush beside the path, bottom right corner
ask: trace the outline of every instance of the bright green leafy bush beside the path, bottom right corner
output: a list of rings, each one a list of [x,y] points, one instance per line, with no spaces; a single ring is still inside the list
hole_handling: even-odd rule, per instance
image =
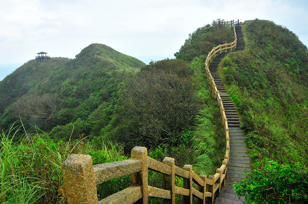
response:
[[[307,203],[308,170],[300,163],[278,164],[266,160],[265,166],[253,169],[247,178],[236,183],[235,192],[245,201],[255,203]]]

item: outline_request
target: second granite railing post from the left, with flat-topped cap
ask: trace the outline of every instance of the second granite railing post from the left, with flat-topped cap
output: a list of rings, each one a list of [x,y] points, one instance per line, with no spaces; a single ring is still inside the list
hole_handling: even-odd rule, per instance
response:
[[[142,204],[148,204],[148,151],[146,147],[134,147],[131,151],[131,159],[137,159],[141,162],[141,171],[132,174],[132,185],[142,186],[142,198],[138,201]]]

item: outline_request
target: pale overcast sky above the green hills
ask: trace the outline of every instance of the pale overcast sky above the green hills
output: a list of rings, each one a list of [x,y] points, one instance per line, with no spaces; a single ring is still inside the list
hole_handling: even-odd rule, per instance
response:
[[[217,18],[272,20],[308,45],[307,14],[307,0],[1,0],[0,72],[42,51],[75,58],[91,43],[147,64],[174,58],[189,33]]]

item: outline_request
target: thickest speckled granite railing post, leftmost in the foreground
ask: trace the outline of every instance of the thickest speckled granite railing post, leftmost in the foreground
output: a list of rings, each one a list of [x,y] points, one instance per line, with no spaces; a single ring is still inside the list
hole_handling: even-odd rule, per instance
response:
[[[90,155],[71,154],[61,168],[69,204],[98,204],[95,172]]]

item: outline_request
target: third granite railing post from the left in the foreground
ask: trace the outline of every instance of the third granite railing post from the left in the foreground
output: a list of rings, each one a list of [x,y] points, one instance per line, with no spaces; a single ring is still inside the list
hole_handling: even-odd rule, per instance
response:
[[[170,190],[171,199],[164,199],[166,204],[175,204],[175,165],[174,159],[165,157],[163,164],[171,167],[171,175],[163,174],[163,187],[164,190]]]

